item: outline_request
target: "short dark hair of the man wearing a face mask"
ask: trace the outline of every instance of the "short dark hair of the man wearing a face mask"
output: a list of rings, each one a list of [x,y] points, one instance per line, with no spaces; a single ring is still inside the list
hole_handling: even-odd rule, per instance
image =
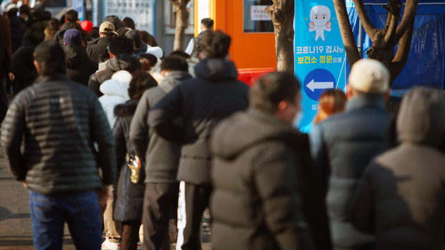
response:
[[[281,101],[295,102],[300,82],[290,73],[273,72],[260,78],[250,90],[250,106],[275,113]]]

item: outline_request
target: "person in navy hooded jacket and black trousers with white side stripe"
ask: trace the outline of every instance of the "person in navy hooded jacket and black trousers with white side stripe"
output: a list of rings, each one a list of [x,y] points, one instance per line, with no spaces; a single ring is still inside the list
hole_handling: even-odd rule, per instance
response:
[[[177,85],[149,111],[148,126],[161,138],[181,144],[177,249],[201,249],[202,213],[211,193],[209,136],[221,119],[248,108],[248,85],[226,60],[231,38],[209,31],[202,38],[207,58],[195,67],[196,78]],[[175,123],[184,120],[184,126]]]

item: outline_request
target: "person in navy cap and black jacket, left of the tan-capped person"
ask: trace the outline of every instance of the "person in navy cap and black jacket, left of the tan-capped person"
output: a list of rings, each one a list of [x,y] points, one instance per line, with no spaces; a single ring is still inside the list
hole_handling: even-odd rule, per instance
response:
[[[76,29],[70,29],[63,34],[62,49],[65,52],[65,68],[67,76],[72,81],[81,83],[88,87],[91,74],[94,74],[98,65],[94,60],[88,58],[85,47],[83,47],[82,34]]]

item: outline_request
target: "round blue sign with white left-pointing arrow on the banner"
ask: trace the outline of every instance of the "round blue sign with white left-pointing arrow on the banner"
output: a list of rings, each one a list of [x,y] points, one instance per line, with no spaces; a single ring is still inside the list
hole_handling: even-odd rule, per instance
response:
[[[314,69],[305,78],[305,93],[310,99],[318,101],[325,90],[335,88],[335,83],[337,82],[331,72],[326,69]]]

